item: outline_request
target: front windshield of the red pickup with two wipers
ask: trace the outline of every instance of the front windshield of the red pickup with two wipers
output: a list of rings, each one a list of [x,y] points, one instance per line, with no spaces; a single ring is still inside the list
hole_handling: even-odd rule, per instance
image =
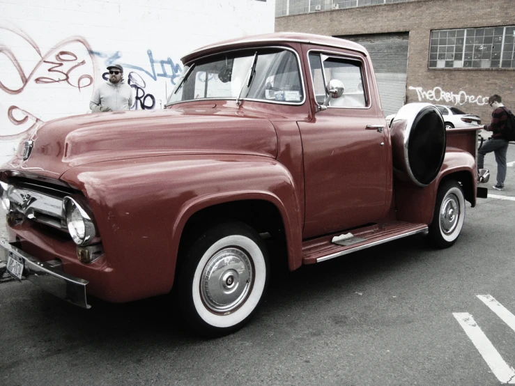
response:
[[[257,60],[249,77],[254,56]],[[191,68],[191,70],[190,70]],[[167,104],[195,99],[269,100],[299,103],[304,100],[298,61],[286,49],[228,52],[189,63],[185,77],[171,93]],[[250,84],[247,87],[249,82]]]

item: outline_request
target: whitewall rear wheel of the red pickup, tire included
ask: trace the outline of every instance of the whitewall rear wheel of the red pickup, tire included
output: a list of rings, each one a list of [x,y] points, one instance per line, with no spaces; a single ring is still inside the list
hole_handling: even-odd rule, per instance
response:
[[[456,242],[465,219],[463,188],[455,180],[448,180],[438,188],[433,222],[429,236],[438,248],[448,248]]]

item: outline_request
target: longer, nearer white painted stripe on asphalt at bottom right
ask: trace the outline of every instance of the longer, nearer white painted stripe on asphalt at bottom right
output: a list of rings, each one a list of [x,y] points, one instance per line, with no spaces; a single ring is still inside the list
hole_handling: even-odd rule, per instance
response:
[[[491,371],[502,383],[515,384],[515,370],[502,359],[500,354],[468,312],[453,312],[454,318],[474,343]]]

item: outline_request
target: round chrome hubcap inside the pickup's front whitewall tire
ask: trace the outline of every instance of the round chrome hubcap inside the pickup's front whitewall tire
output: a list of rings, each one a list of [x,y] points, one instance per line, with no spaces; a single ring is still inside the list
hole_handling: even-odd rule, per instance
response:
[[[202,301],[216,314],[229,313],[247,300],[253,280],[254,270],[247,252],[224,248],[209,259],[202,271]]]

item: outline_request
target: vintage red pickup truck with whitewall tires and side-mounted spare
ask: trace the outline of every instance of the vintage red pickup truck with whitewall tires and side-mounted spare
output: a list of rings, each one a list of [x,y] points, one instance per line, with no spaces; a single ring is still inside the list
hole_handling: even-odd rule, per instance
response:
[[[456,242],[482,192],[477,133],[424,103],[387,125],[361,45],[277,33],[182,60],[166,109],[62,118],[21,142],[0,170],[11,275],[85,308],[173,287],[174,312],[220,336],[252,317],[272,260]]]

